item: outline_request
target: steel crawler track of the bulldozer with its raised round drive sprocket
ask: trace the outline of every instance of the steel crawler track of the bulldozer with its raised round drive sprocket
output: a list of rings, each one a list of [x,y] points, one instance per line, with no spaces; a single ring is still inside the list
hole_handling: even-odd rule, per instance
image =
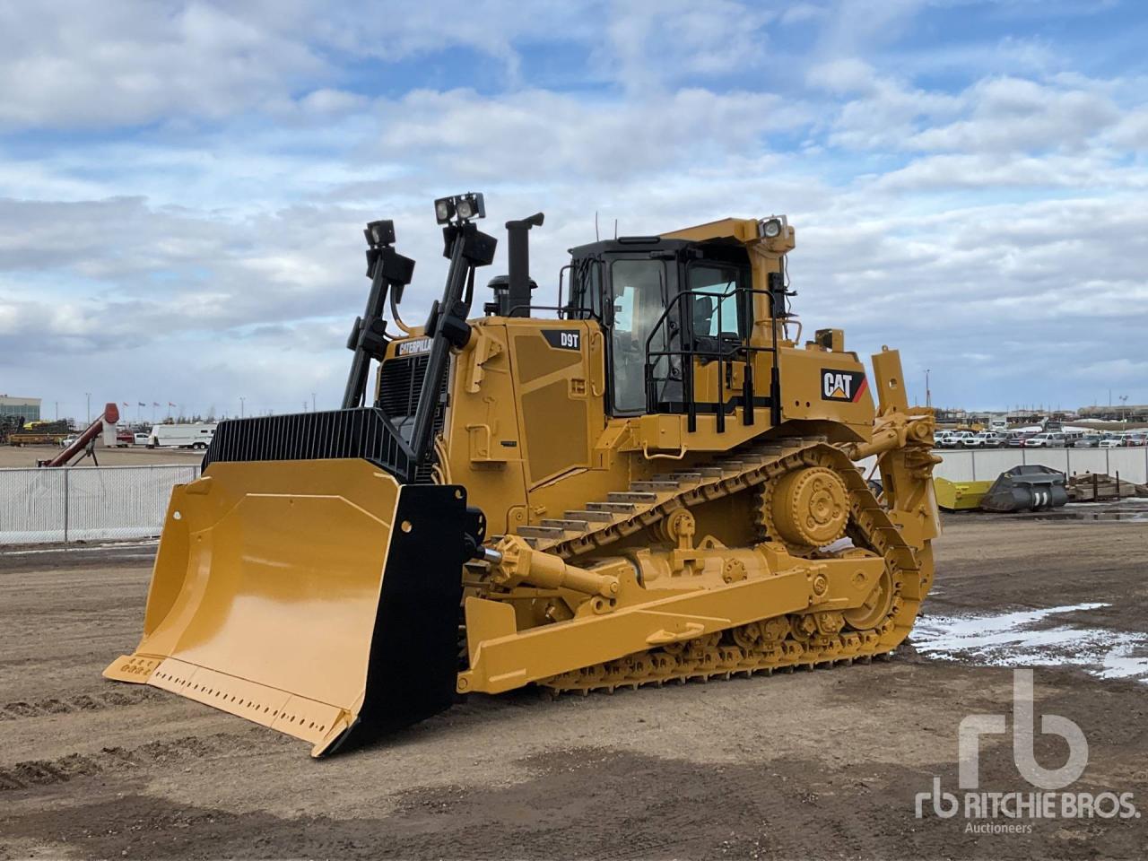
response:
[[[822,541],[828,536],[825,543],[831,543],[848,533],[853,548],[824,553],[822,558],[876,554],[885,559],[881,584],[864,606],[841,612],[774,616],[731,628],[721,635],[659,646],[564,673],[540,684],[556,692],[611,691],[620,687],[868,661],[895,649],[913,627],[921,599],[929,590],[930,575],[922,573],[913,550],[852,461],[836,447],[827,443],[802,445],[804,442],[786,439],[781,445],[757,445],[699,470],[659,476],[667,488],[676,484],[677,489],[634,491],[627,496],[641,494],[642,498],[607,503],[627,510],[614,510],[606,522],[587,522],[587,532],[567,536],[567,530],[563,530],[560,538],[540,534],[541,530],[525,532],[534,536],[529,541],[538,550],[577,561],[638,529],[673,518],[683,509],[689,511],[731,494],[757,492],[763,501],[755,509],[762,515],[761,526],[773,540],[784,541],[794,554],[816,558],[819,551],[801,543],[791,544],[788,538],[793,535],[802,541]],[[802,499],[813,512],[812,527],[808,521],[799,522],[794,517],[784,521],[784,526],[776,522],[778,509],[793,511]],[[847,506],[846,517],[838,511],[839,505]],[[592,503],[587,506],[591,511],[603,507],[603,504]],[[581,528],[580,523],[577,529]]]

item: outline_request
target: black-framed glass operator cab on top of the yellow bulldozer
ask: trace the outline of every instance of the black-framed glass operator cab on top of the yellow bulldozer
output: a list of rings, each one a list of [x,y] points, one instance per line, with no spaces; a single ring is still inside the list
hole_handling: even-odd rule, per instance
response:
[[[684,412],[693,398],[683,367],[747,359],[753,285],[742,243],[623,236],[571,255],[564,316],[606,332],[613,416]]]

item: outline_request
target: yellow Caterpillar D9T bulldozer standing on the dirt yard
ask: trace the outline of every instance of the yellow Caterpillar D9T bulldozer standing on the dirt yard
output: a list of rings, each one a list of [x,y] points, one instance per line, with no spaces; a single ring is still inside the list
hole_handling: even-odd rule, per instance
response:
[[[507,222],[509,274],[472,316],[484,201],[435,214],[450,264],[426,324],[402,320],[414,263],[372,222],[342,408],[219,424],[107,677],[323,755],[470,693],[852,664],[906,637],[939,533],[932,412],[894,350],[870,382],[840,329],[800,342],[785,217],[579,246],[549,308],[543,216]]]

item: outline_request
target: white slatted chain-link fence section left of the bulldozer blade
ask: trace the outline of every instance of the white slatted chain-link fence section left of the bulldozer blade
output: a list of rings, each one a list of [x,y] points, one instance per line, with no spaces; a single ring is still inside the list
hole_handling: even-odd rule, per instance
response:
[[[199,464],[0,470],[0,544],[158,535],[174,484]]]

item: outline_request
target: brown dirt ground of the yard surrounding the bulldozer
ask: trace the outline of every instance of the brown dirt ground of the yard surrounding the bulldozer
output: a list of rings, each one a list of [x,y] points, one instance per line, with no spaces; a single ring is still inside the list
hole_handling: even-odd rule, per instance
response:
[[[1011,712],[1013,673],[891,660],[614,696],[472,697],[354,753],[100,678],[134,645],[152,549],[0,557],[0,859],[1142,858],[1148,821],[1024,819],[976,833],[915,796],[956,791],[957,727]],[[1100,604],[1060,625],[1148,631],[1148,522],[953,517],[926,619]],[[1107,635],[1106,635],[1107,636]],[[396,656],[396,660],[404,656]],[[1148,670],[1146,670],[1148,672]],[[1088,740],[1065,792],[1148,809],[1148,683],[1038,667],[1035,712]],[[1010,719],[1011,726],[1011,719]],[[1066,746],[1037,729],[1037,759]],[[983,791],[1027,792],[1011,736]],[[974,821],[982,824],[1010,820]]]

